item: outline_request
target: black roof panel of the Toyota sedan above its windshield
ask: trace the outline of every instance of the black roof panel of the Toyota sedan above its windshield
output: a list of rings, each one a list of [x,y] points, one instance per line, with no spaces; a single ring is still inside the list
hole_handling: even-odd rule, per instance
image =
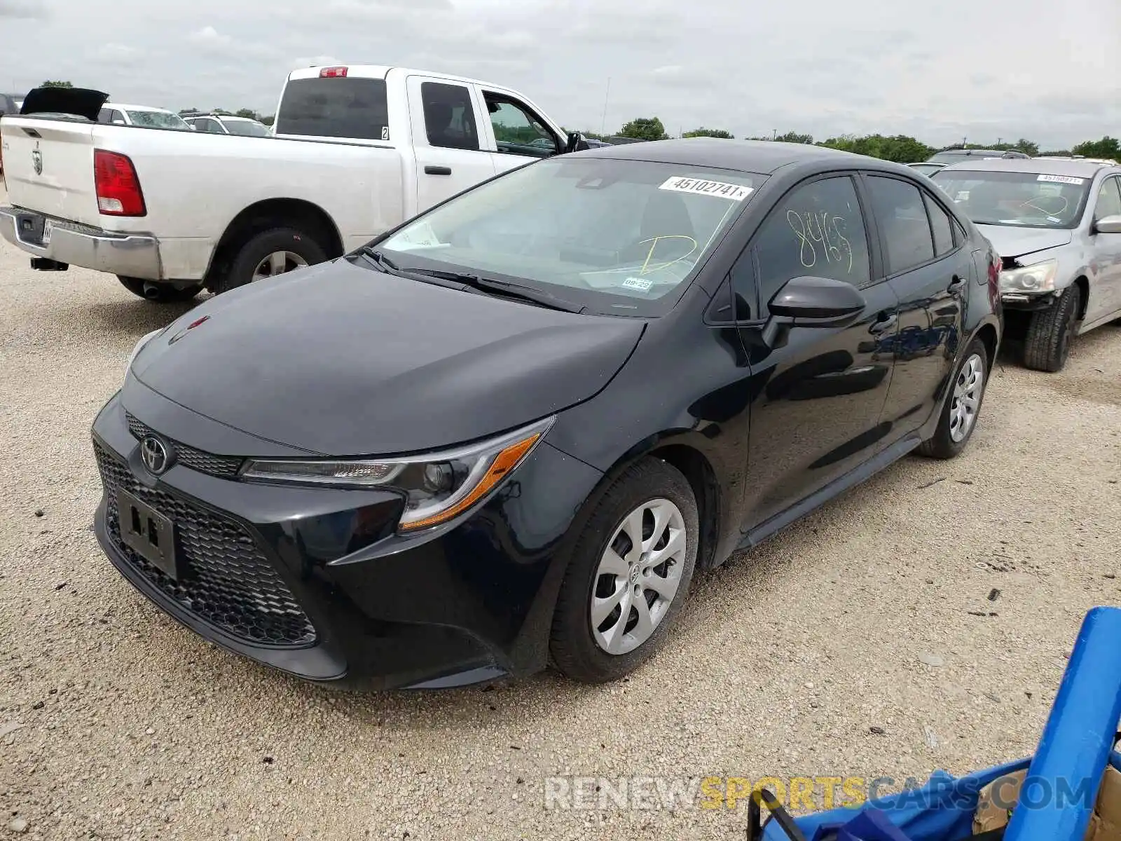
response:
[[[860,158],[839,149],[808,144],[782,144],[769,140],[726,140],[714,137],[691,137],[684,140],[655,140],[645,144],[627,144],[576,153],[587,158],[620,158],[626,160],[649,160],[682,166],[711,166],[739,169],[745,173],[770,175],[789,164],[810,160],[836,160]],[[863,164],[861,164],[863,166]]]

